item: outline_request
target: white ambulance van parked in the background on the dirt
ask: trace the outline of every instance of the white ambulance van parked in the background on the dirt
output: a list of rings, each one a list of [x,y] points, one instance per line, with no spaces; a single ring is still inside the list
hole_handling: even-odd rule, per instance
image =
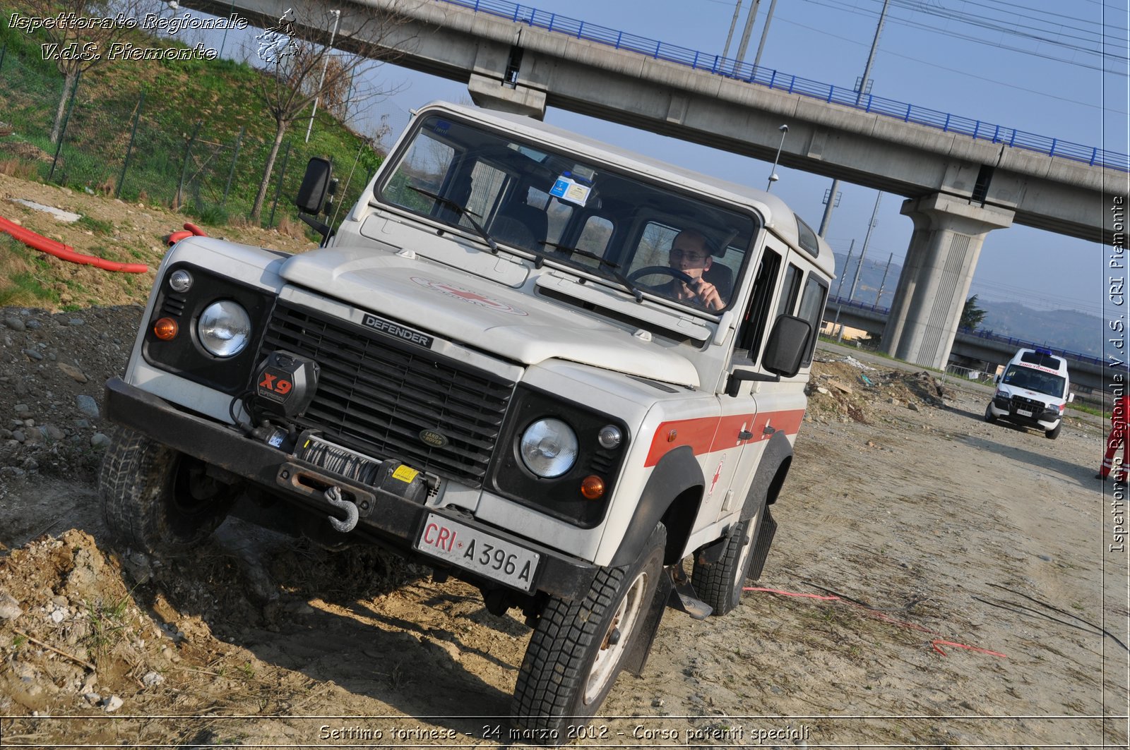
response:
[[[985,421],[1006,419],[1038,427],[1050,439],[1059,437],[1069,393],[1067,361],[1049,349],[1020,349],[997,376],[997,393],[985,408]]]

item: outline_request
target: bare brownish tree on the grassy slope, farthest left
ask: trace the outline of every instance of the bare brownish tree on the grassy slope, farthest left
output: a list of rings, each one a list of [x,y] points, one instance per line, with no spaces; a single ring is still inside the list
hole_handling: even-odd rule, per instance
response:
[[[63,90],[51,127],[51,142],[58,143],[67,99],[78,77],[107,62],[113,45],[131,33],[144,11],[157,5],[154,0],[25,0],[23,6],[29,21],[51,21],[43,24],[40,30],[47,40],[42,47],[43,58],[52,60],[63,77]]]

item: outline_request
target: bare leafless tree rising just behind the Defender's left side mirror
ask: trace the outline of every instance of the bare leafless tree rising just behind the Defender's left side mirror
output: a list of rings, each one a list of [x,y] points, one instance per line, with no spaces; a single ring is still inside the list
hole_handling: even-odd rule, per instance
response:
[[[296,6],[279,23],[259,35],[258,60],[263,66],[259,95],[275,121],[275,140],[267,156],[251,218],[259,220],[275,160],[287,130],[298,119],[311,116],[315,101],[331,112],[344,110],[354,78],[397,54],[382,45],[393,32],[403,37],[403,18],[384,8],[348,5],[337,11],[320,3]],[[332,44],[331,44],[332,41]],[[336,51],[337,49],[349,52]],[[372,80],[372,77],[370,77]],[[363,98],[374,101],[394,93],[394,87],[370,86]],[[358,103],[356,93],[348,103]],[[324,110],[323,110],[324,111]]]

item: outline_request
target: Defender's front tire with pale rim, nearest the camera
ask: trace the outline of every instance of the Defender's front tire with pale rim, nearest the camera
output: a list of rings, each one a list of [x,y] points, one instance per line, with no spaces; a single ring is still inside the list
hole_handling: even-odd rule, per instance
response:
[[[529,741],[562,744],[600,709],[625,656],[646,637],[644,619],[663,574],[667,530],[655,527],[636,561],[603,568],[584,599],[553,598],[518,674],[511,714]]]

